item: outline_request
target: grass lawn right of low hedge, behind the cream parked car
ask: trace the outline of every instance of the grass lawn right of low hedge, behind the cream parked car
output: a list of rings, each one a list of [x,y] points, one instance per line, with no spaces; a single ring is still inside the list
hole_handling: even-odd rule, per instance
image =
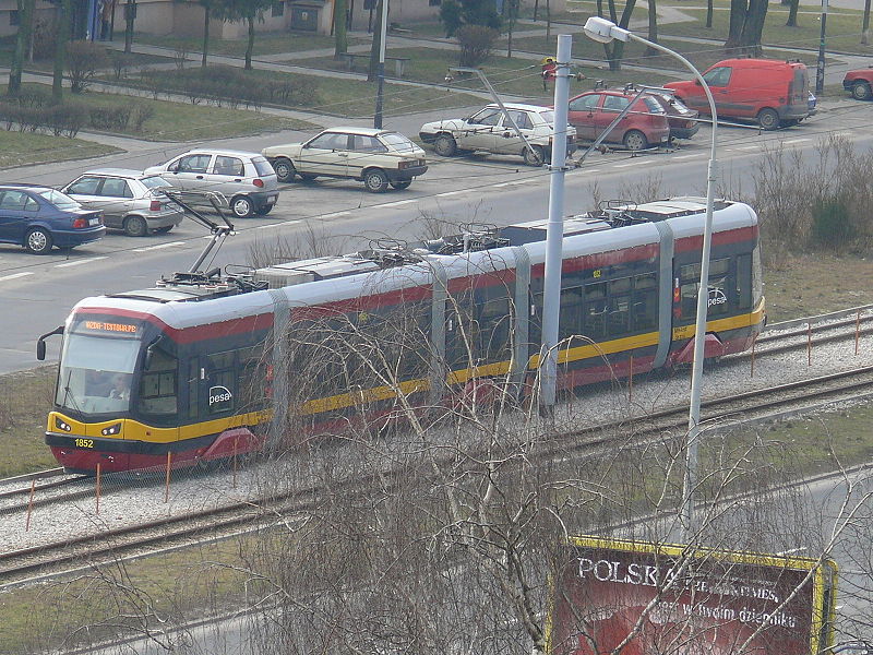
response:
[[[172,80],[178,79],[179,72],[167,71],[165,74],[168,80]],[[294,82],[295,80],[306,79],[308,84],[314,84],[315,91],[312,97],[294,105],[294,108],[309,109],[350,119],[363,119],[373,116],[376,95],[375,82],[369,83],[364,80],[345,78],[318,78],[258,69],[250,71],[249,74],[264,81],[291,80]],[[405,86],[388,82],[385,84],[384,115],[414,114],[432,107],[468,107],[479,102],[481,102],[479,98],[466,94],[450,93],[442,88]],[[199,107],[202,108],[203,105]]]

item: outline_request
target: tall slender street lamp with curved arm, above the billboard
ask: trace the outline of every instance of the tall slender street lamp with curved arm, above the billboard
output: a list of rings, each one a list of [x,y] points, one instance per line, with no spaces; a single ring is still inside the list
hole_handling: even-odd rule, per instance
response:
[[[716,135],[718,129],[718,116],[716,114],[716,103],[713,99],[713,92],[701,72],[679,52],[665,48],[648,39],[637,36],[623,27],[619,27],[611,21],[600,16],[591,16],[585,23],[585,34],[589,38],[606,44],[612,39],[627,41],[629,39],[641,43],[649,48],[654,48],[665,55],[679,59],[693,74],[697,82],[706,92],[706,99],[709,102],[709,112],[713,115],[713,143],[709,150],[709,166],[706,178],[706,222],[703,233],[703,250],[701,252],[701,284],[697,288],[697,322],[694,329],[694,362],[691,369],[691,402],[689,407],[689,437],[685,448],[685,480],[682,491],[682,517],[685,541],[694,534],[694,487],[697,484],[697,438],[701,432],[701,383],[703,377],[704,343],[706,341],[706,310],[709,299],[709,251],[713,246],[713,202],[715,200],[716,186]]]

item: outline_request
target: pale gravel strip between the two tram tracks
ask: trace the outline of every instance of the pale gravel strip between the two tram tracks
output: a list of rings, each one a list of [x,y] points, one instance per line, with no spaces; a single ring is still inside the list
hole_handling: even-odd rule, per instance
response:
[[[833,322],[837,322],[834,319]],[[824,324],[814,325],[814,334],[825,330]],[[786,329],[788,333],[792,329]],[[778,334],[774,331],[773,334]],[[785,382],[850,370],[861,366],[873,366],[873,335],[860,340],[859,355],[854,355],[853,331],[850,337],[839,342],[814,344],[812,362],[808,366],[805,336],[796,336],[804,347],[782,350],[772,355],[758,353],[754,377],[748,357],[727,357],[715,369],[707,370],[703,380],[704,401],[730,395],[750,389],[765,389]],[[687,404],[691,369],[681,369],[672,376],[661,372],[636,376],[629,398],[626,380],[612,384],[594,385],[578,392],[573,402],[565,402],[555,409],[554,425],[574,426],[601,424],[611,420],[643,418],[654,410]],[[548,431],[540,419],[528,417],[535,429]],[[517,422],[517,421],[514,421]],[[408,443],[406,444],[408,445]],[[384,444],[386,452],[391,443]],[[339,452],[342,445],[337,445]],[[399,446],[398,446],[399,448]],[[82,484],[91,489],[86,497],[77,497],[62,504],[51,503],[36,507],[31,515],[29,531],[25,532],[26,512],[21,509],[4,510],[0,507],[0,551],[7,552],[81,536],[97,536],[107,531],[154,522],[167,516],[192,514],[236,504],[263,497],[270,490],[267,465],[250,465],[236,474],[229,471],[205,475],[200,472],[174,472],[169,496],[165,502],[164,474],[115,474],[103,478],[104,496],[97,502],[93,493],[95,481]],[[87,487],[89,485],[89,487]],[[19,483],[19,486],[21,484]],[[60,489],[44,493],[60,492]],[[37,499],[40,495],[37,495]]]

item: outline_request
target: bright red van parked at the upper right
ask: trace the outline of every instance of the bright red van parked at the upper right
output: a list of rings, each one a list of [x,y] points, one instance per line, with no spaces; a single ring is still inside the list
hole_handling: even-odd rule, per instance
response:
[[[796,126],[810,115],[806,66],[777,59],[726,59],[706,69],[719,118],[755,120],[765,130]],[[709,114],[696,80],[665,84],[701,114]]]

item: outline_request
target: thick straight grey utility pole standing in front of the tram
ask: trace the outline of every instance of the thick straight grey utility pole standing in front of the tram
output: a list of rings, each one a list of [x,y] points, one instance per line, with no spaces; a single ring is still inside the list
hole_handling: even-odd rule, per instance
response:
[[[549,223],[546,227],[546,281],[542,294],[542,346],[540,348],[540,405],[551,410],[557,396],[558,326],[561,314],[561,264],[564,241],[564,176],[570,96],[570,53],[573,36],[558,35],[554,75],[554,139],[552,139]]]

